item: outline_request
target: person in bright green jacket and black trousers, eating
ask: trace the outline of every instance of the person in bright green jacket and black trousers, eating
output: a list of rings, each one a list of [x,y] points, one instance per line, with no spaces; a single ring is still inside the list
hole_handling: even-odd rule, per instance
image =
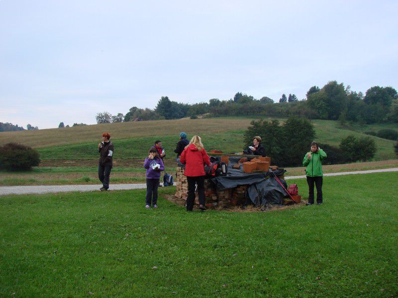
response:
[[[316,142],[311,143],[311,150],[307,152],[302,160],[302,165],[306,166],[305,175],[308,183],[308,203],[305,205],[312,205],[314,203],[314,183],[316,186],[316,203],[322,204],[322,159],[326,158],[326,153],[319,148]]]

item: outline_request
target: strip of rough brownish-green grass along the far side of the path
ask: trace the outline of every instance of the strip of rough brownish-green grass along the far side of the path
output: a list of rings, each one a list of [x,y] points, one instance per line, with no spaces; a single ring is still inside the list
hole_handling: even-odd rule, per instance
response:
[[[96,161],[93,161],[96,164]],[[110,183],[143,183],[145,171],[143,161],[135,160],[138,166],[114,166]],[[173,174],[176,168],[174,160],[165,160],[166,171]],[[324,173],[373,170],[398,167],[398,159],[355,162],[346,164],[324,165]],[[287,176],[303,175],[304,167],[286,168]],[[0,186],[10,185],[62,185],[62,184],[99,184],[97,166],[55,166],[35,167],[32,171],[0,171]]]

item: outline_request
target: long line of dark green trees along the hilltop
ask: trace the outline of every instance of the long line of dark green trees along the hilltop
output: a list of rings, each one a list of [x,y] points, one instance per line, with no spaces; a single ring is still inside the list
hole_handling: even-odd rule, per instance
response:
[[[184,117],[263,115],[271,117],[299,116],[309,119],[339,120],[360,124],[379,122],[398,123],[398,93],[393,87],[373,86],[365,94],[352,91],[337,81],[329,81],[322,88],[312,86],[305,98],[295,94],[282,94],[279,102],[263,96],[256,99],[237,92],[229,100],[212,98],[208,102],[194,104],[172,101],[162,96],[155,109],[132,107],[123,115],[112,116],[108,112],[96,116],[97,123],[128,122],[143,120],[179,119]]]

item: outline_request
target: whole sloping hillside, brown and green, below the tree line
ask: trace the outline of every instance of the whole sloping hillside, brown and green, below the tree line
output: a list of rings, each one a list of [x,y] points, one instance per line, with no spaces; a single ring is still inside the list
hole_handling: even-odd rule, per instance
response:
[[[199,134],[206,149],[224,152],[242,150],[243,134],[252,118],[226,117],[213,119],[179,119],[90,125],[85,127],[39,131],[7,132],[0,134],[1,144],[20,142],[39,150],[42,159],[97,159],[97,144],[103,131],[109,131],[115,144],[115,159],[141,159],[156,139],[162,140],[167,157],[175,157],[174,149],[181,131],[191,137]],[[283,121],[283,119],[281,120]],[[342,138],[352,134],[366,136],[364,131],[394,128],[393,125],[356,126],[342,128],[338,122],[313,120],[316,140],[338,146]],[[398,128],[396,128],[398,130]],[[378,152],[375,160],[395,159],[394,141],[371,137]]]

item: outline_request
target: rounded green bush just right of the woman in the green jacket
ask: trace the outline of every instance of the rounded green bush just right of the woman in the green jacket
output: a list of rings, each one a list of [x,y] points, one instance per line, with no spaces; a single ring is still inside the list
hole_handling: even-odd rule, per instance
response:
[[[341,140],[340,149],[344,152],[347,161],[368,161],[377,151],[375,140],[370,137],[357,139],[353,135]]]

